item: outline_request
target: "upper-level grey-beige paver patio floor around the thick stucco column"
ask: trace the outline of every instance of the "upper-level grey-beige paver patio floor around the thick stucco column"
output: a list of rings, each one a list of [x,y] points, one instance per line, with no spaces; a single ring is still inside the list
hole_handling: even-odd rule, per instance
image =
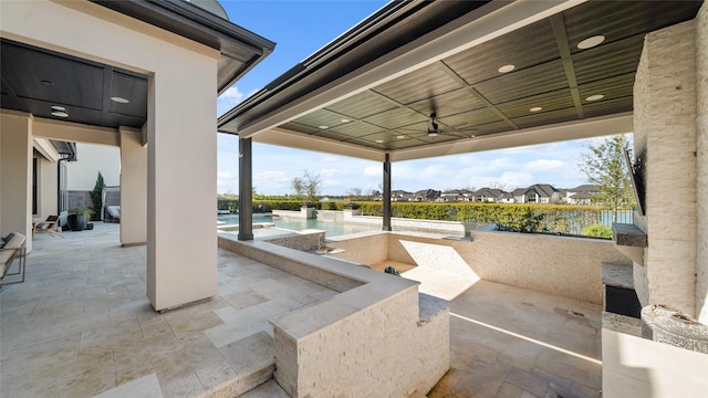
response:
[[[118,228],[37,235],[27,282],[0,290],[1,397],[194,397],[269,366],[268,318],[335,294],[219,250],[218,295],[159,314],[146,248],[121,248]],[[243,344],[258,355],[235,357]]]

